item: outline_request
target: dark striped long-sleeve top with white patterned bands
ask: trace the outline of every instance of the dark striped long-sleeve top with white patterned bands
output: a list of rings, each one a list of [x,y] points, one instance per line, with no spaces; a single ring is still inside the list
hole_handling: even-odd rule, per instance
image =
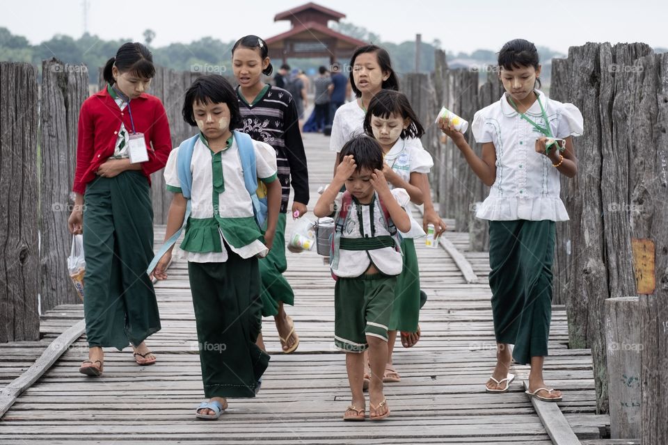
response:
[[[304,144],[299,131],[299,118],[292,96],[282,88],[267,85],[248,104],[237,87],[242,125],[239,131],[276,149],[278,180],[281,185],[280,211],[287,212],[290,184],[294,200],[308,204],[308,169]]]

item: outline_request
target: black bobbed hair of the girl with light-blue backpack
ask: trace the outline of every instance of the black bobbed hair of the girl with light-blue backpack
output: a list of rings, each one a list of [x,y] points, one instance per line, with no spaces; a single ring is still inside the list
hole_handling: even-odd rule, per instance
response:
[[[230,82],[218,74],[209,74],[198,77],[186,91],[183,102],[183,120],[191,127],[195,127],[193,104],[226,104],[230,108],[230,131],[241,127],[241,112],[239,99]]]

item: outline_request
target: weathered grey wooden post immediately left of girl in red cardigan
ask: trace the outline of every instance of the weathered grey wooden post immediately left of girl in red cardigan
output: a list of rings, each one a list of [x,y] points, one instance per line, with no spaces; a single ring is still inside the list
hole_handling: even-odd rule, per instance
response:
[[[40,304],[42,312],[81,302],[67,272],[72,236],[68,196],[74,181],[77,124],[88,97],[88,68],[52,58],[42,62],[40,177]]]

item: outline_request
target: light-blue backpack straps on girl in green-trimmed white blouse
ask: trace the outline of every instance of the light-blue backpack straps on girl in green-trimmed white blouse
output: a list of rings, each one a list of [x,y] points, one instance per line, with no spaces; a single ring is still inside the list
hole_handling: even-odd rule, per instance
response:
[[[257,165],[255,164],[255,147],[253,147],[253,140],[248,134],[241,133],[241,131],[234,130],[232,133],[234,134],[234,140],[237,142],[237,152],[239,154],[239,159],[241,160],[241,168],[244,170],[244,186],[246,186],[246,190],[250,195],[250,200],[253,202],[253,217],[255,218],[257,227],[260,227],[260,230],[262,230],[264,229],[264,223],[267,221],[267,188],[262,181],[257,181]],[[181,145],[179,145],[179,152],[177,153],[176,163],[179,184],[181,186],[183,197],[188,200],[186,204],[186,213],[183,217],[183,225],[175,234],[165,241],[159,252],[155,254],[151,264],[148,266],[147,273],[152,272],[160,258],[174,243],[176,243],[176,240],[188,223],[188,218],[191,213],[190,197],[193,188],[193,172],[190,170],[190,164],[193,159],[193,151],[198,138],[200,138],[200,135],[196,134],[195,136],[184,140]]]

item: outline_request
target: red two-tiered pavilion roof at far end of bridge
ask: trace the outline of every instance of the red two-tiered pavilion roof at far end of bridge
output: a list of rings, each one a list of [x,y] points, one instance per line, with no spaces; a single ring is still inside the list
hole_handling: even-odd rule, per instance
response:
[[[287,58],[328,57],[330,63],[349,58],[356,47],[367,44],[363,40],[337,33],[327,26],[330,20],[338,22],[346,15],[316,3],[306,3],[273,17],[274,22],[289,20],[292,29],[266,39],[269,57],[287,61]]]

